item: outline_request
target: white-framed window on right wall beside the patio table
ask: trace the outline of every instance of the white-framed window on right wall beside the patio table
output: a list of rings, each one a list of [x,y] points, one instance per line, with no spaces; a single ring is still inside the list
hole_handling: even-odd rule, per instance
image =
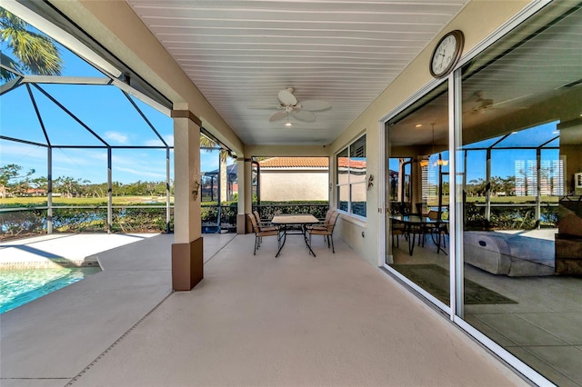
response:
[[[337,208],[366,217],[366,134],[336,155]]]

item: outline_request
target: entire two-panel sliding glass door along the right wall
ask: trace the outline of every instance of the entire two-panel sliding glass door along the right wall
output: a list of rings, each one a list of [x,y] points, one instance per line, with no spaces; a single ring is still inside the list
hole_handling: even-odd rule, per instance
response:
[[[385,266],[529,377],[582,385],[582,4],[523,19],[386,121]]]

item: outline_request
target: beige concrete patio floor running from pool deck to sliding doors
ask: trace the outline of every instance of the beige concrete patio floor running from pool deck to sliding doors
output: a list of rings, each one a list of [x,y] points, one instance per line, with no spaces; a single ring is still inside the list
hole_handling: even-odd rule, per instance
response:
[[[163,234],[2,314],[0,385],[527,385],[341,241],[314,258],[289,237],[275,258],[274,238],[254,256],[253,234],[203,236],[192,292],[171,292]]]

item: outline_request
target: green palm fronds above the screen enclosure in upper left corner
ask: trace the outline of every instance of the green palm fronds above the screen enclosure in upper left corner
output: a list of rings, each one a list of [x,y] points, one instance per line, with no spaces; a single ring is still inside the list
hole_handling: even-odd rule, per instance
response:
[[[53,39],[30,30],[23,20],[0,8],[0,43],[10,49],[13,57],[2,55],[2,65],[24,73],[60,75],[63,67]],[[7,81],[15,74],[0,68],[0,78]]]

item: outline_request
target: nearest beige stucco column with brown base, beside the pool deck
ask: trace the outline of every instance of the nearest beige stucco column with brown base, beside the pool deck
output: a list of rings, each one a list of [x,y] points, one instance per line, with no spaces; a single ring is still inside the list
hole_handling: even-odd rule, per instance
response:
[[[172,288],[175,291],[189,291],[204,277],[199,194],[202,122],[186,109],[173,110],[172,117],[175,176]]]

